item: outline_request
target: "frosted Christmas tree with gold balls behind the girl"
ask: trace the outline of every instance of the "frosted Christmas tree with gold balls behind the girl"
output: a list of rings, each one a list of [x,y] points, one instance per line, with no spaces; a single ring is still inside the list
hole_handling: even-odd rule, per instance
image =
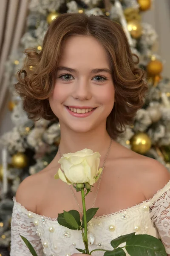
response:
[[[17,70],[23,67],[23,50],[35,48],[40,53],[49,24],[61,13],[105,15],[123,27],[131,51],[138,55],[139,66],[147,72],[149,90],[144,107],[137,112],[134,123],[126,127],[118,142],[170,169],[170,81],[161,76],[163,60],[156,53],[157,34],[150,24],[142,22],[142,12],[149,10],[151,3],[151,0],[31,0],[26,33],[21,38],[20,48],[6,63],[11,91],[8,108],[14,128],[0,138],[3,148],[0,165],[2,256],[9,255],[12,198],[17,187],[28,175],[39,172],[51,162],[60,141],[59,123],[28,119],[13,85],[17,82]],[[29,70],[34,72],[34,67],[30,65]]]

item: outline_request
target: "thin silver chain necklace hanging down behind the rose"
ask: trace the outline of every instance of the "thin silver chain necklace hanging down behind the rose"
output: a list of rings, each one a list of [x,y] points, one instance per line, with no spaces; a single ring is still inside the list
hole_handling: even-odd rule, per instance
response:
[[[100,182],[101,182],[101,179],[102,179],[103,170],[104,170],[104,168],[105,168],[105,163],[106,163],[108,154],[109,154],[109,152],[110,152],[111,145],[112,145],[112,138],[111,138],[111,143],[110,143],[110,145],[109,145],[109,148],[108,148],[108,151],[107,151],[107,153],[106,153],[105,160],[104,160],[104,163],[103,163],[103,166],[102,166],[102,173],[101,173],[101,175],[100,175],[100,177],[99,177],[99,183],[98,183],[98,186],[97,186],[97,189],[96,189],[96,194],[95,194],[95,197],[94,197],[94,202],[93,202],[92,208],[94,208],[94,205],[95,205],[95,202],[96,202],[96,197],[97,197],[97,194],[98,194],[98,191],[99,191],[99,186],[100,186]],[[59,156],[62,157],[61,151],[60,151],[60,148],[59,148],[59,147],[58,147],[58,151],[59,151]],[[74,196],[74,198],[75,198],[75,201],[76,201],[76,203],[77,203],[77,205],[78,205],[78,207],[79,207],[79,210],[80,210],[81,214],[83,215],[82,209],[81,209],[81,207],[79,206],[79,203],[78,203],[78,201],[77,201],[77,197],[74,195],[74,191],[73,191],[72,187],[71,187],[71,186],[69,186],[69,187],[70,187],[71,192],[72,192],[72,194],[73,194],[73,196]]]

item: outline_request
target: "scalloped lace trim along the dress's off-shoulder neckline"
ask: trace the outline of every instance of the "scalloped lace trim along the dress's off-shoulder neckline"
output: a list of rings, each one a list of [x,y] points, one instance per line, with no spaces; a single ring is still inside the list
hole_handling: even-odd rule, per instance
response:
[[[117,215],[121,212],[126,212],[128,210],[130,211],[133,211],[133,210],[136,210],[137,208],[141,207],[143,204],[153,204],[155,201],[158,200],[158,198],[164,194],[164,192],[167,192],[167,190],[170,189],[170,180],[168,181],[168,183],[162,188],[162,189],[159,189],[155,195],[153,196],[153,198],[150,198],[150,199],[147,199],[145,201],[142,201],[141,203],[139,204],[136,204],[132,207],[127,207],[127,209],[122,209],[122,210],[119,210],[117,212],[113,212],[113,213],[110,213],[110,214],[104,214],[104,215],[101,215],[101,216],[94,216],[94,219],[101,219],[101,218],[105,218],[105,217],[111,217],[113,215]],[[28,214],[30,211],[28,211],[22,204],[18,203],[16,201],[16,198],[13,197],[13,201],[14,201],[14,204],[17,204],[18,207],[20,207],[21,209],[23,209],[23,212],[25,212],[26,214]],[[32,215],[35,217],[35,218],[46,218],[47,220],[49,221],[57,221],[57,218],[51,218],[51,217],[47,217],[47,216],[44,216],[44,215],[39,215],[37,213],[34,213],[34,212],[31,212]]]

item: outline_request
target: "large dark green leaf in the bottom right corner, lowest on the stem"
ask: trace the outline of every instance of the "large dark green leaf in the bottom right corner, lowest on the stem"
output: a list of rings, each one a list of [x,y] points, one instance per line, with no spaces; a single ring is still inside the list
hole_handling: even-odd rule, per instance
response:
[[[126,250],[130,256],[167,256],[164,245],[156,237],[136,235],[126,242]]]

